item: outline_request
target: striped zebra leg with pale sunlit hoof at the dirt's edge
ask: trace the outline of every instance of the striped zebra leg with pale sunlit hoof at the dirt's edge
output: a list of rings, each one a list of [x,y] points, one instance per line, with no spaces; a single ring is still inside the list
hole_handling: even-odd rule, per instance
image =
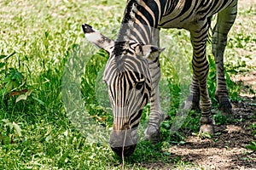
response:
[[[207,31],[209,28],[207,20],[199,21],[197,26],[193,27],[190,31],[191,42],[193,45],[193,79],[197,78],[200,98],[201,98],[201,127],[200,133],[213,133],[213,119],[211,113],[211,99],[207,90],[207,76],[209,65],[206,56],[207,50]],[[193,81],[195,82],[195,80]],[[192,82],[192,85],[193,85]],[[193,93],[193,92],[192,92]]]

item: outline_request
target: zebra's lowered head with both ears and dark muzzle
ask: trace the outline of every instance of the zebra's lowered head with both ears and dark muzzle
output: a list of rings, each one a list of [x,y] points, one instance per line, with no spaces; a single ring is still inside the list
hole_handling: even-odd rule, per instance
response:
[[[109,143],[117,155],[130,156],[137,144],[143,107],[153,91],[148,63],[157,59],[163,49],[135,41],[115,42],[91,26],[82,27],[87,40],[109,54],[103,75],[113,109]]]

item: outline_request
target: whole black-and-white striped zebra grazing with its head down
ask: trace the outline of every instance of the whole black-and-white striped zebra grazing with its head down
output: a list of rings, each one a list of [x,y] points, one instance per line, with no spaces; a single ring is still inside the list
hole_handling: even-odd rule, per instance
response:
[[[185,109],[201,109],[200,133],[214,133],[211,99],[207,91],[209,65],[206,56],[208,30],[213,14],[218,14],[212,29],[212,54],[217,71],[215,97],[219,109],[232,113],[224,77],[224,48],[234,24],[237,0],[127,0],[124,17],[114,41],[83,24],[85,37],[105,49],[109,59],[103,81],[113,109],[113,130],[109,144],[118,156],[130,156],[137,145],[137,127],[143,107],[150,101],[150,116],[145,139],[160,142],[159,56],[160,29],[178,28],[190,32],[193,47],[193,78]]]

